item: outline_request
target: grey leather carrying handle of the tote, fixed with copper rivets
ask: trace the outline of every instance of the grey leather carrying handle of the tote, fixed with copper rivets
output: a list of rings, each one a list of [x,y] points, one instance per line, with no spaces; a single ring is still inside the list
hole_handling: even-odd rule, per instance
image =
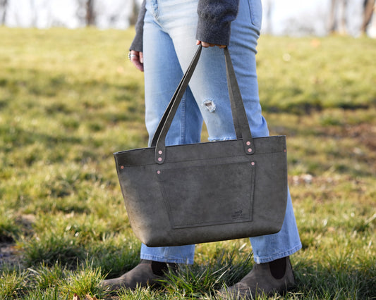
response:
[[[186,92],[190,78],[192,77],[195,67],[200,58],[201,51],[202,45],[198,47],[198,51],[196,51],[193,60],[191,61],[188,69],[186,70],[186,73],[183,75],[183,78],[181,79],[181,82],[179,83],[174,93],[174,96],[172,96],[171,101],[166,108],[166,111],[164,111],[162,119],[159,121],[157,130],[154,132],[151,146],[155,147],[155,163],[164,163],[164,160],[166,158],[166,135],[169,131],[169,127],[171,126],[176,111],[178,110],[178,105],[181,102],[183,94]],[[229,99],[231,103],[231,112],[234,120],[236,138],[243,139],[245,154],[253,154],[255,152],[255,145],[250,132],[250,127],[248,125],[248,119],[245,113],[243,100],[241,98],[241,92],[236,80],[234,66],[232,65],[231,56],[227,47],[224,48],[224,56],[226,60],[227,87],[229,89]]]

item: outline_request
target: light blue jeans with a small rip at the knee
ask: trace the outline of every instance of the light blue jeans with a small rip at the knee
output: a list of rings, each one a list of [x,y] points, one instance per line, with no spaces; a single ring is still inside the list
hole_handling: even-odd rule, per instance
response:
[[[169,103],[183,70],[197,49],[198,0],[147,0],[144,23],[145,123],[150,139]],[[256,45],[260,35],[260,0],[241,0],[231,24],[229,51],[243,96],[253,137],[269,135],[261,114],[256,75]],[[218,47],[202,49],[189,88],[166,137],[166,144],[200,142],[202,120],[210,140],[235,139],[226,85],[224,53]],[[280,232],[250,238],[256,263],[267,263],[301,249],[291,198]],[[195,245],[141,246],[141,258],[169,263],[193,263]]]

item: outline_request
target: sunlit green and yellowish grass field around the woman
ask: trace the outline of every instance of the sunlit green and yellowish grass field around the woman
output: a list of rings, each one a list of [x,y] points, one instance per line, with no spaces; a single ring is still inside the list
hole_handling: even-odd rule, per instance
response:
[[[126,61],[133,30],[0,37],[0,299],[109,299],[99,281],[139,259],[112,156],[147,144],[142,73]],[[260,39],[260,99],[272,135],[287,136],[303,243],[285,299],[376,299],[375,49]],[[163,289],[112,297],[211,299],[248,273],[251,251],[247,239],[200,244]]]

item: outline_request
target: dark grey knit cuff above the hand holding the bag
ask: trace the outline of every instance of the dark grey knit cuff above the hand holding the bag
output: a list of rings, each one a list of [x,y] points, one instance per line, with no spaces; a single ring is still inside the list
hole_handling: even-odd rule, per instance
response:
[[[196,39],[218,45],[229,45],[231,23],[212,23],[210,20],[198,18]]]

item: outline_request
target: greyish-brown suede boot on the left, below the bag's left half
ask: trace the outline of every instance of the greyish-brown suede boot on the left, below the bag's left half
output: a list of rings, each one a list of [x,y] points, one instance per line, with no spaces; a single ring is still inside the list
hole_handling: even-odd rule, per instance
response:
[[[159,263],[158,261],[147,261],[142,259],[132,270],[121,275],[120,277],[103,280],[101,286],[109,291],[116,291],[121,287],[135,289],[138,287],[155,287],[160,285],[160,280],[169,268],[176,270],[175,263]]]

